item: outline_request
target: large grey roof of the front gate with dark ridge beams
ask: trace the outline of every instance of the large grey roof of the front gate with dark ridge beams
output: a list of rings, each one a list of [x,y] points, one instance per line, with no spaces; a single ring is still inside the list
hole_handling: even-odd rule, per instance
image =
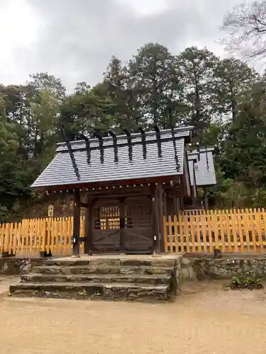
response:
[[[57,144],[54,159],[46,167],[43,173],[36,179],[32,187],[44,188],[55,185],[73,185],[79,183],[96,183],[107,181],[123,181],[135,178],[152,178],[160,176],[176,176],[183,173],[184,164],[184,137],[189,136],[193,127],[176,128],[174,135],[179,137],[176,140],[177,156],[180,169],[177,171],[174,159],[174,144],[171,140],[171,130],[162,130],[162,158],[158,157],[158,147],[155,132],[146,133],[147,159],[143,159],[143,145],[134,144],[141,142],[140,134],[133,134],[132,155],[133,160],[128,158],[128,145],[125,135],[117,137],[118,162],[114,161],[113,139],[106,137],[104,142],[104,163],[101,163],[101,152],[99,149],[99,139],[90,139],[90,147],[96,148],[91,151],[90,164],[87,163],[86,143],[84,141],[71,142],[74,159],[76,161],[80,179],[72,166],[70,153],[65,143]],[[119,146],[125,143],[126,146]]]

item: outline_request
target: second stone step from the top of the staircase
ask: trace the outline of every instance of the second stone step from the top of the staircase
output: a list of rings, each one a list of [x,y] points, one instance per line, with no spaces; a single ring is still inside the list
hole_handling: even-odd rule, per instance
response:
[[[34,267],[32,273],[41,274],[157,274],[157,275],[172,275],[173,266],[150,266],[150,265],[41,265]]]

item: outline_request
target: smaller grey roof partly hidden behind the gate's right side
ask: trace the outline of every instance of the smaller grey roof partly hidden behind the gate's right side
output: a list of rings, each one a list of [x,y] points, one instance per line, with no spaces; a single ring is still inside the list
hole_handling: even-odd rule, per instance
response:
[[[195,169],[196,185],[207,186],[216,184],[216,174],[214,169],[214,148],[207,149],[207,156],[209,161],[209,171],[207,169],[206,149],[201,149],[200,159],[197,159],[196,152],[188,152],[187,157],[189,160],[189,176],[191,184],[193,185],[193,169]],[[196,162],[194,163],[194,159]]]

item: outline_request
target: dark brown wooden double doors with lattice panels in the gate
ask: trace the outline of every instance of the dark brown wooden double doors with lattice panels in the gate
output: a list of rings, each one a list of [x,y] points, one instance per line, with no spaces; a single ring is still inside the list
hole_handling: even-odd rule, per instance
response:
[[[150,198],[105,202],[93,208],[94,252],[151,253],[153,251]]]

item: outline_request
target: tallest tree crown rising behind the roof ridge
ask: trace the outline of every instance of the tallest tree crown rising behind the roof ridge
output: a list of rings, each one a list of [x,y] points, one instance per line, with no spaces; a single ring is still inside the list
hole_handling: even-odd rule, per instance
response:
[[[128,76],[140,114],[152,124],[170,127],[169,108],[177,110],[182,89],[174,55],[158,43],[148,43],[128,63]]]

